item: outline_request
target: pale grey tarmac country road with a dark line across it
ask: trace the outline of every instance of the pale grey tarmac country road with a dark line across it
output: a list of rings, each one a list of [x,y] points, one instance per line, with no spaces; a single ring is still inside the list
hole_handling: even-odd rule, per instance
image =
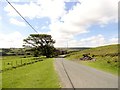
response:
[[[64,58],[55,59],[63,88],[118,88],[118,77]]]

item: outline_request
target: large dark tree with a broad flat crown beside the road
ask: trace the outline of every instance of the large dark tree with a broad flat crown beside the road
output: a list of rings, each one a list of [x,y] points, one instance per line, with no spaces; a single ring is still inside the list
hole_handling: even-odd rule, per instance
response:
[[[51,35],[47,34],[30,34],[28,38],[23,40],[24,47],[29,47],[34,52],[34,56],[39,54],[46,56],[47,58],[54,55],[55,41],[52,39]]]

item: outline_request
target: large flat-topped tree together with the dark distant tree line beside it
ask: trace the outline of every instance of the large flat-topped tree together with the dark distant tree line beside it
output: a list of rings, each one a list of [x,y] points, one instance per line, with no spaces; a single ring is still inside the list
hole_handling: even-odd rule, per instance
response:
[[[24,48],[3,48],[0,54],[2,56],[32,55],[34,57],[46,56],[50,58],[67,53],[65,50],[59,50],[54,47],[55,40],[52,39],[51,35],[30,34],[23,42]]]

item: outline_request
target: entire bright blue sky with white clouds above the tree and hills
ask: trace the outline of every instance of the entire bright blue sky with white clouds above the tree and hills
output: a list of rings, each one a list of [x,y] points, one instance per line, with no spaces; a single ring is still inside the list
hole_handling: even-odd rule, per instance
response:
[[[98,47],[118,43],[119,0],[9,0],[55,47]],[[36,34],[5,1],[0,1],[0,48],[21,48]]]

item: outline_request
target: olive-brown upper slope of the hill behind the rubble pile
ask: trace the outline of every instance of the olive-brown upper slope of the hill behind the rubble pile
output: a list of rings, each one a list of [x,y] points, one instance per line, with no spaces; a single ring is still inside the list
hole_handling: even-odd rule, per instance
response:
[[[90,53],[90,55],[95,56],[118,56],[118,54],[120,54],[118,53],[118,46],[120,46],[120,44],[85,49],[79,52],[73,52],[71,56],[76,59],[80,58],[83,54],[86,53]]]

